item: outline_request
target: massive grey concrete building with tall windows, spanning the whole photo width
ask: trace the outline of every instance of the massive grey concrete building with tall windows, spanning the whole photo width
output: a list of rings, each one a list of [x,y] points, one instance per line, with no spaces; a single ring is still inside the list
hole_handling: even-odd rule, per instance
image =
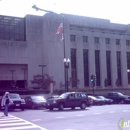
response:
[[[63,23],[59,34],[56,31]],[[63,34],[63,35],[62,35]],[[67,77],[80,82],[69,87],[128,87],[130,84],[130,25],[69,14],[46,13],[24,18],[0,16],[0,88],[31,88],[34,75],[49,74],[55,89]],[[25,84],[26,82],[26,84]]]

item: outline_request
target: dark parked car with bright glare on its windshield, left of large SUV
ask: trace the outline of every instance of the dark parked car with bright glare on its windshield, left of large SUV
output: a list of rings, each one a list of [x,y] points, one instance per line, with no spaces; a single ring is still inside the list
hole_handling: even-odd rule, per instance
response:
[[[38,109],[46,107],[46,99],[43,96],[27,96],[25,102],[26,108]]]

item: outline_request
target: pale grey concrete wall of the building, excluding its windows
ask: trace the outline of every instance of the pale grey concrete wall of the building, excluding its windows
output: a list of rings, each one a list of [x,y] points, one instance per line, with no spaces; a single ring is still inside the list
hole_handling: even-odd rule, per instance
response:
[[[101,86],[104,87],[106,74],[106,50],[111,51],[112,86],[117,79],[116,51],[121,51],[122,86],[128,86],[126,40],[129,40],[129,25],[110,23],[109,20],[82,17],[67,14],[46,14],[44,16],[27,15],[26,41],[0,40],[0,64],[26,65],[28,68],[28,87],[32,87],[31,80],[36,74],[42,74],[39,65],[47,65],[44,73],[54,77],[55,88],[64,83],[64,45],[61,34],[56,30],[64,15],[65,57],[71,58],[70,50],[77,50],[77,77],[80,80],[78,87],[84,87],[83,49],[89,50],[89,74],[95,74],[95,50],[100,50]],[[70,34],[76,35],[76,42],[70,42]],[[82,42],[82,36],[88,36],[88,43]],[[99,44],[94,43],[94,37],[99,37]],[[106,45],[105,38],[110,38],[110,45]],[[116,45],[115,40],[121,44]],[[70,63],[71,66],[71,63]],[[21,72],[19,72],[20,74]],[[18,74],[18,75],[19,75]],[[69,68],[71,77],[71,68]],[[36,85],[35,85],[36,86]]]

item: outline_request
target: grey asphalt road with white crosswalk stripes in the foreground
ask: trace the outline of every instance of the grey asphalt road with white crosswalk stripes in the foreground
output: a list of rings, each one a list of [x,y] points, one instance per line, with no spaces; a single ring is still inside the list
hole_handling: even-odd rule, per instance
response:
[[[9,117],[0,117],[0,130],[119,130],[122,118],[125,122],[130,120],[130,104],[92,106],[86,110],[15,110]]]

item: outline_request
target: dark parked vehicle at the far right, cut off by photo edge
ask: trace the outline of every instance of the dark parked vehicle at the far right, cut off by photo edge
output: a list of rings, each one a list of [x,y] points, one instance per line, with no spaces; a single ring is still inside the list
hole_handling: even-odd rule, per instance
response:
[[[112,99],[114,103],[130,103],[130,96],[123,95],[120,92],[109,92],[106,98]]]

